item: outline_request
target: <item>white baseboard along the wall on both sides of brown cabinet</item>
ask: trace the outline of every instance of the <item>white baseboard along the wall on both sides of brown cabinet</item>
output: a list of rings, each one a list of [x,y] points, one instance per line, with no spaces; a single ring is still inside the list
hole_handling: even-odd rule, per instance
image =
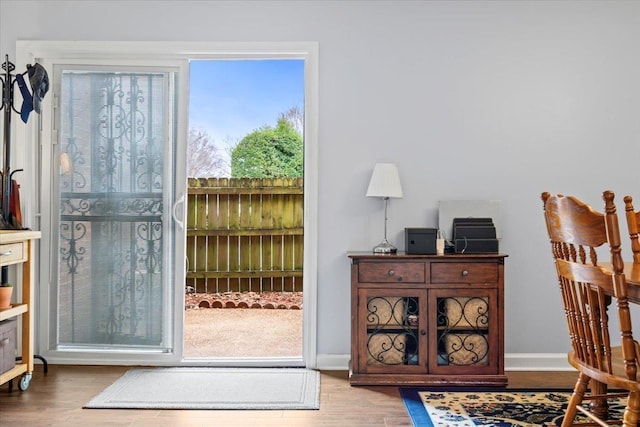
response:
[[[348,354],[319,354],[317,367],[325,371],[349,369]],[[504,356],[505,371],[573,371],[566,353],[507,353]]]

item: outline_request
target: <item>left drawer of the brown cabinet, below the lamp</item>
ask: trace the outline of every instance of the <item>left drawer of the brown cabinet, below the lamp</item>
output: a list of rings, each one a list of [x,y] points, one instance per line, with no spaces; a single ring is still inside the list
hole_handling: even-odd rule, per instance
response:
[[[424,283],[423,262],[361,262],[358,281],[369,283]]]

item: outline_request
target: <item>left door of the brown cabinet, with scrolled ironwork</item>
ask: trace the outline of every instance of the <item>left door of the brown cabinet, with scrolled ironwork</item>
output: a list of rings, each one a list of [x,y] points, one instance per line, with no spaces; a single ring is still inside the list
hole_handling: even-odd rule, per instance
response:
[[[359,291],[360,371],[424,371],[426,297],[424,290]]]

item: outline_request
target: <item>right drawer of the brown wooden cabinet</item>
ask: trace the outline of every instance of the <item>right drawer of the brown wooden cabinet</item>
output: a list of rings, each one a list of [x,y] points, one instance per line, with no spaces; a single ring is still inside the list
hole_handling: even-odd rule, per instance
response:
[[[431,283],[496,283],[498,264],[487,262],[431,263]]]

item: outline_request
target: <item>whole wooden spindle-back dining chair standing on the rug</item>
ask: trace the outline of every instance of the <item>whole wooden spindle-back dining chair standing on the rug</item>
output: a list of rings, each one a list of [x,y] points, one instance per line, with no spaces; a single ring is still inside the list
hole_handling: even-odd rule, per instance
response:
[[[637,427],[640,418],[640,346],[633,340],[614,194],[605,191],[603,198],[604,214],[574,197],[542,194],[572,346],[568,360],[578,370],[562,427],[613,422],[605,419],[607,401],[620,397],[627,398],[627,405],[618,424]],[[598,262],[597,248],[607,246],[613,272]],[[607,307],[612,298],[620,323],[618,348],[610,342]],[[607,389],[624,392],[608,393]],[[591,405],[584,406],[583,401]],[[578,412],[589,417],[590,424],[575,422]]]

